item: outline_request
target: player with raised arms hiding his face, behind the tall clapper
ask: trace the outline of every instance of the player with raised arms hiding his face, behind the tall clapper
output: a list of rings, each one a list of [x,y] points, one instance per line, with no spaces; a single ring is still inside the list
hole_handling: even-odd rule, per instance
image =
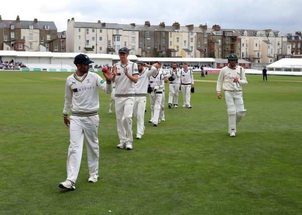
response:
[[[146,108],[146,96],[147,88],[149,84],[149,77],[157,73],[159,64],[155,63],[152,66],[143,63],[142,61],[137,61],[138,67],[138,80],[135,84],[135,97],[134,97],[134,107],[133,115],[136,117],[136,139],[141,139],[144,134],[144,111]]]

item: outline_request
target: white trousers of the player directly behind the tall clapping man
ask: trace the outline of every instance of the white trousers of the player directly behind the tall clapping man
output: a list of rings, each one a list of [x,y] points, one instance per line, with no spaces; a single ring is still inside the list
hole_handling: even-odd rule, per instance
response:
[[[136,117],[136,135],[144,134],[144,111],[146,108],[146,97],[134,97],[133,115]]]

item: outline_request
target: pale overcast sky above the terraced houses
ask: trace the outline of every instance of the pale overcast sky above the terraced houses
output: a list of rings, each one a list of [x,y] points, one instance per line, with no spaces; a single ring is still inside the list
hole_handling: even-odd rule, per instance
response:
[[[66,30],[67,19],[75,22],[101,22],[151,25],[175,21],[181,26],[207,24],[234,29],[273,29],[282,33],[302,31],[302,0],[50,0],[20,1],[18,7],[2,7],[3,20],[54,21],[58,31]]]

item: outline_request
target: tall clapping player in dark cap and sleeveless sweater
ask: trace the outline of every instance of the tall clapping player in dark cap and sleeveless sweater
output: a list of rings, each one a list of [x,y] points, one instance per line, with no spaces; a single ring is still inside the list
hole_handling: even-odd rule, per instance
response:
[[[115,82],[115,113],[117,133],[119,136],[118,149],[133,149],[132,114],[135,96],[135,83],[138,79],[137,64],[127,59],[129,49],[118,50],[120,61],[112,68]]]

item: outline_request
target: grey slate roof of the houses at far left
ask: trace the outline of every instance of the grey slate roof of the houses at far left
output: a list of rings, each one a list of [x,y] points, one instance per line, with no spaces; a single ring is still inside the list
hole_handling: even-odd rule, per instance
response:
[[[0,28],[11,28],[11,25],[14,25],[15,28],[21,29],[29,29],[29,25],[33,25],[34,29],[45,29],[44,26],[49,26],[49,29],[45,30],[57,30],[54,22],[49,21],[38,21],[38,23],[34,23],[34,21],[22,21],[17,22],[16,20],[2,20],[0,21]]]

